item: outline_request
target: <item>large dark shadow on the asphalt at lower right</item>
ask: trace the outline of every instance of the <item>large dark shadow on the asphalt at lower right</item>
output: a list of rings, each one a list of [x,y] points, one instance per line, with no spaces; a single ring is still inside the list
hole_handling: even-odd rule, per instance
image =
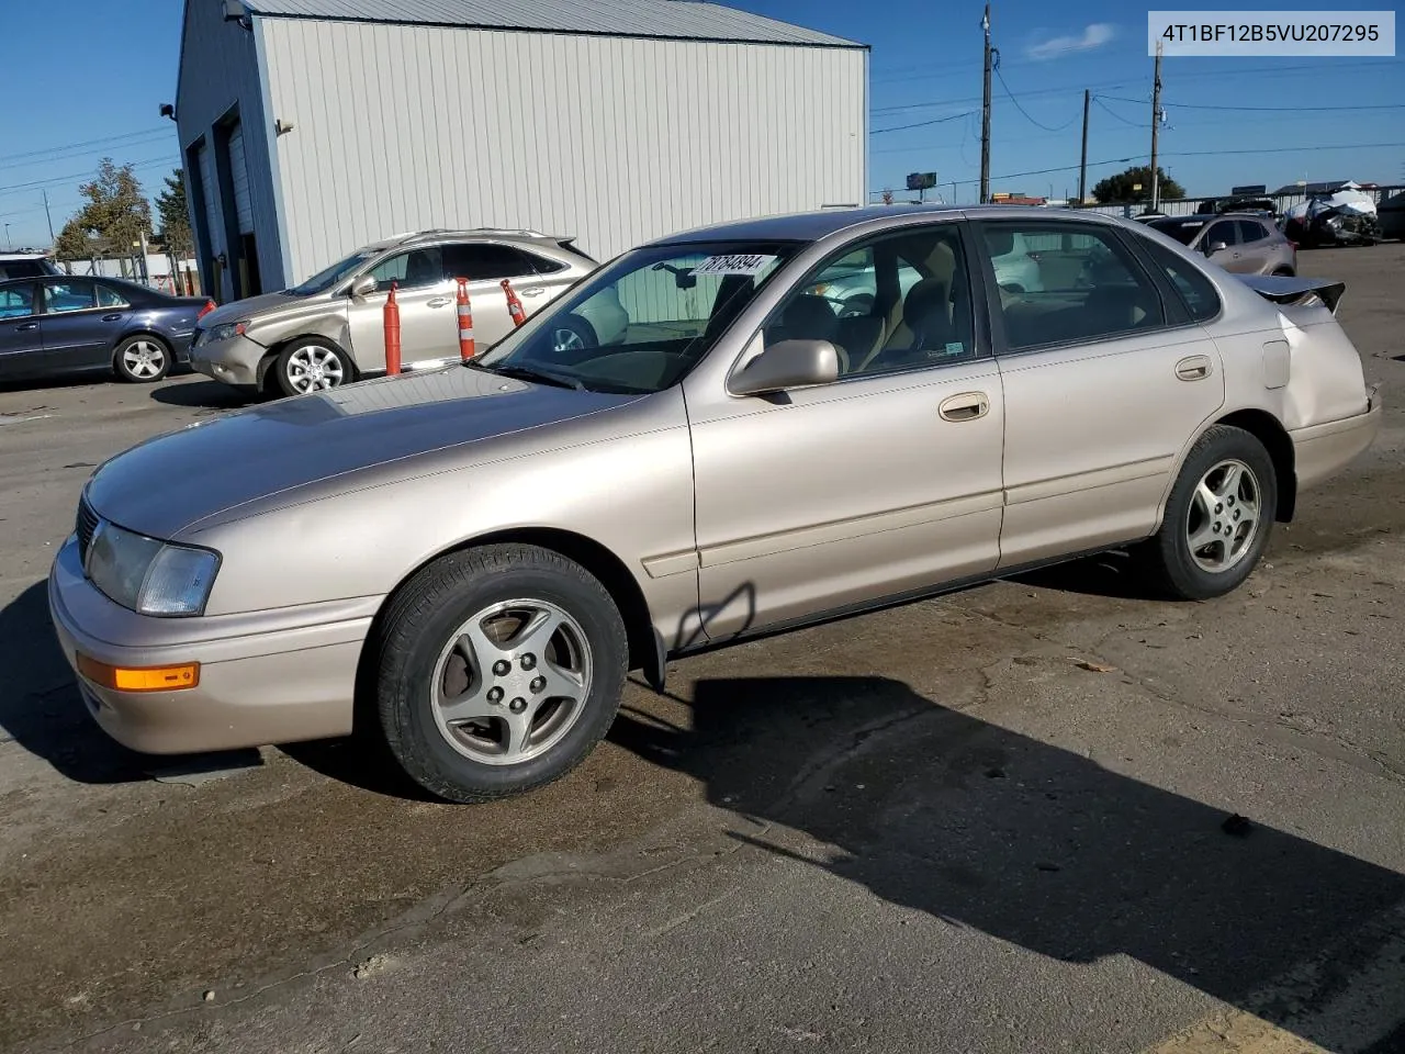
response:
[[[691,729],[627,710],[611,741],[837,852],[735,838],[948,925],[1064,963],[1127,956],[1329,1050],[1342,1036],[1301,1008],[1399,939],[1401,874],[899,682],[704,680],[693,696]],[[1293,999],[1269,991],[1284,977]]]

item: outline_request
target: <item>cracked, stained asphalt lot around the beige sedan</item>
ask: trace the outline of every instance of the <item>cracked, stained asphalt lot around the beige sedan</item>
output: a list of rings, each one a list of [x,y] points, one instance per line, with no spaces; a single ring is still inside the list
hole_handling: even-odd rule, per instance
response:
[[[1405,1051],[1405,245],[1301,264],[1385,427],[1239,593],[1103,558],[690,658],[475,808],[107,741],[49,561],[94,464],[237,399],[0,392],[0,1047]]]

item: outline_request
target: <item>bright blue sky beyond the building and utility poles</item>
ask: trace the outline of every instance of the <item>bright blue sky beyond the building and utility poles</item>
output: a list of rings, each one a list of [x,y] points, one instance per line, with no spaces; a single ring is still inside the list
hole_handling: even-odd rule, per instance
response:
[[[871,191],[902,194],[909,171],[936,170],[944,197],[953,180],[958,200],[975,197],[981,4],[731,1],[873,46]],[[181,3],[4,3],[10,83],[28,79],[42,94],[13,91],[10,105],[0,107],[0,222],[10,225],[14,245],[48,245],[44,190],[58,230],[79,204],[77,184],[104,153],[135,162],[149,194],[177,164],[176,125],[157,107],[174,101]],[[1145,8],[1087,3],[1075,13],[1002,0],[993,37],[1003,84],[995,82],[992,190],[1076,193],[1085,87],[1096,97],[1089,186],[1145,163]],[[1300,178],[1405,183],[1405,107],[1364,108],[1405,103],[1402,58],[1166,59],[1163,84],[1163,163],[1191,194],[1243,183],[1272,190]]]

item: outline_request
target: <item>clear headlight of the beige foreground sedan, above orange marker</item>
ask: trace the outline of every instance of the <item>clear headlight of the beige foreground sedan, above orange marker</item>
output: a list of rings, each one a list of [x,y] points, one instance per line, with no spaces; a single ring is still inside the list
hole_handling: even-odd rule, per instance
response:
[[[215,585],[219,554],[156,541],[103,520],[84,569],[110,600],[132,611],[198,616]]]

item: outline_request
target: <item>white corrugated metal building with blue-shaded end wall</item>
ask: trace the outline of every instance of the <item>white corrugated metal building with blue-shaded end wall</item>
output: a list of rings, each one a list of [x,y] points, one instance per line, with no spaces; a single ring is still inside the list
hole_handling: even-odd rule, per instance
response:
[[[603,260],[860,204],[867,90],[865,45],[690,0],[185,0],[176,118],[232,299],[427,228]]]

